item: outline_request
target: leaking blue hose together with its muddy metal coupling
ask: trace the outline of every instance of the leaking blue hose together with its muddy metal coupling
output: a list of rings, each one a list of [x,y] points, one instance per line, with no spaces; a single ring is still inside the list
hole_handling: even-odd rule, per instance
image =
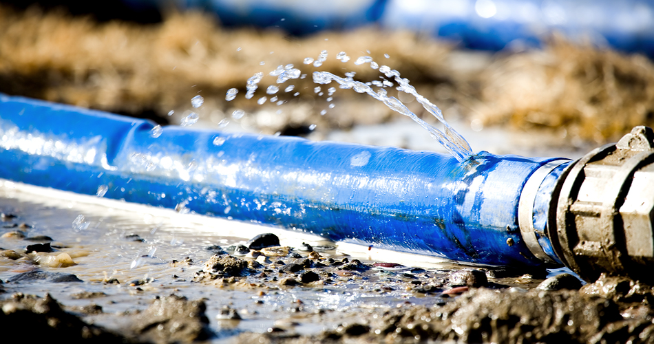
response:
[[[452,155],[158,127],[0,95],[0,178],[490,266],[641,281],[654,257],[654,133],[576,161]]]

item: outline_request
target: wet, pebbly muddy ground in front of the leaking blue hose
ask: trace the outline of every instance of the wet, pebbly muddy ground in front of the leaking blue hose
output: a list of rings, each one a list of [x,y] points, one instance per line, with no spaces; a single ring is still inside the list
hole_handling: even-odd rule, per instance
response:
[[[73,217],[79,204],[38,206],[8,195],[1,200],[0,323],[5,333],[29,341],[654,341],[653,288],[618,277],[583,283],[561,269],[403,266],[348,255],[328,241],[286,246],[284,231],[281,240],[262,233],[231,245],[205,237],[183,244],[189,255],[180,255],[172,241],[167,246],[157,239],[169,240],[165,224],[154,235],[147,226],[107,230],[125,219],[87,210],[85,220],[96,230],[70,235],[64,229],[70,224],[56,228],[43,220]],[[17,212],[30,208],[39,215]],[[129,221],[136,226],[123,228],[143,227]],[[176,240],[202,233],[178,233]],[[127,246],[141,252],[131,267]],[[129,257],[121,260],[107,250]]]

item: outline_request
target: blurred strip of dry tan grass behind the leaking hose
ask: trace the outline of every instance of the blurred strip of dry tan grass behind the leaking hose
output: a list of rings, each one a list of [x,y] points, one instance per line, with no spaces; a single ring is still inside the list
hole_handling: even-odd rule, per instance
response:
[[[330,56],[320,70],[340,75],[356,70],[359,80],[375,80],[379,72],[334,58],[340,51],[354,59],[370,50],[376,61],[388,61],[441,108],[458,109],[485,125],[551,129],[568,139],[597,142],[615,140],[634,125],[654,125],[652,61],[562,40],[540,52],[497,54],[478,72],[462,69],[445,43],[374,27],[298,39],[277,31],[224,30],[197,12],[138,25],[0,6],[0,92],[162,118],[171,109],[189,109],[190,98],[200,93],[211,121],[238,107],[251,114],[243,124],[268,133],[288,125],[350,127],[393,116],[355,92],[338,92],[337,107],[329,116],[319,116],[326,103],[313,94],[310,76],[296,80],[303,96],[284,107],[260,106],[242,97],[245,80],[255,72],[293,63],[310,74],[315,68],[302,61],[321,50]],[[262,88],[273,83],[268,76]],[[240,96],[227,103],[224,94],[231,87],[240,89]],[[263,95],[260,90],[255,98]],[[420,111],[414,105],[410,108]],[[275,114],[282,108],[282,114]]]

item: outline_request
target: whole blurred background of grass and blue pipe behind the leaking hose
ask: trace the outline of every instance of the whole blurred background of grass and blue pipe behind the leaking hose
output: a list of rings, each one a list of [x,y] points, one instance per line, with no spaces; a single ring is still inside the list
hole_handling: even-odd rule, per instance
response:
[[[304,64],[324,50],[321,66]],[[652,1],[0,1],[0,92],[161,125],[194,111],[197,127],[439,149],[370,96],[316,92],[316,70],[383,81],[359,56],[408,78],[474,151],[576,157],[654,126]],[[268,73],[288,64],[307,77],[266,94],[277,85]],[[437,123],[394,86],[389,95]]]

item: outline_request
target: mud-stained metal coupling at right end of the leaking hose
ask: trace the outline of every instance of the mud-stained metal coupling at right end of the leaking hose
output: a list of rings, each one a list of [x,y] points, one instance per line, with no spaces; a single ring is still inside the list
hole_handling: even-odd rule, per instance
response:
[[[570,164],[551,197],[556,255],[586,281],[654,282],[654,131],[639,126]]]

